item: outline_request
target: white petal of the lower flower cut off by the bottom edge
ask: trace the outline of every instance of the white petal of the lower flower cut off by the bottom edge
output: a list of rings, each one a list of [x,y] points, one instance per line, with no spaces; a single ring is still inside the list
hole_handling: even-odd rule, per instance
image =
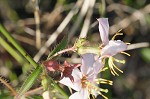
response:
[[[72,94],[69,99],[88,99],[89,94],[87,89],[82,89],[81,91]]]

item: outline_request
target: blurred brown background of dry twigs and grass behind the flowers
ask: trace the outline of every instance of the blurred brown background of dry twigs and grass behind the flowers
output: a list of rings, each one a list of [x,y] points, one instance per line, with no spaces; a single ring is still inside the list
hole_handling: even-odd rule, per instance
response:
[[[117,64],[124,73],[102,76],[113,80],[106,94],[110,99],[150,99],[150,1],[149,0],[0,0],[0,23],[11,33],[35,61],[42,62],[64,38],[67,47],[79,37],[93,44],[101,42],[96,18],[106,17],[110,24],[110,39],[122,29],[116,39],[130,42],[128,53],[117,55],[125,59]],[[7,39],[0,36],[7,42]],[[9,44],[9,42],[7,42]],[[19,88],[32,66],[18,53],[9,52],[0,42],[0,75],[14,88]],[[15,51],[15,50],[14,50]],[[76,53],[64,53],[59,61],[79,63]],[[35,86],[39,86],[40,82]],[[0,97],[7,88],[0,84]],[[98,97],[97,99],[100,99]]]

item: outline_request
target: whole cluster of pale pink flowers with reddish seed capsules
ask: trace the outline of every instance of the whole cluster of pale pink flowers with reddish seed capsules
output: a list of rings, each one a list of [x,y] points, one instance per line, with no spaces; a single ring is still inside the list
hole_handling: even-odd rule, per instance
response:
[[[76,92],[73,93],[69,99],[89,99],[90,95],[96,97],[98,94],[103,98],[107,99],[102,92],[107,93],[107,89],[102,89],[98,87],[98,84],[109,84],[112,85],[112,81],[98,78],[98,74],[104,70],[105,59],[108,58],[108,65],[111,73],[119,75],[116,70],[123,73],[115,64],[114,61],[119,63],[125,63],[124,60],[118,60],[113,56],[117,53],[123,53],[127,49],[127,43],[124,43],[121,40],[114,40],[117,35],[122,35],[118,31],[112,38],[109,40],[109,23],[107,18],[97,19],[99,22],[99,32],[102,40],[102,44],[98,47],[86,46],[85,38],[80,38],[74,46],[74,51],[76,51],[81,56],[81,64],[70,65],[66,61],[63,66],[55,62],[53,64],[47,65],[47,68],[50,71],[60,70],[62,72],[60,83],[71,87]],[[46,63],[48,64],[48,63]],[[55,64],[55,66],[53,66]]]

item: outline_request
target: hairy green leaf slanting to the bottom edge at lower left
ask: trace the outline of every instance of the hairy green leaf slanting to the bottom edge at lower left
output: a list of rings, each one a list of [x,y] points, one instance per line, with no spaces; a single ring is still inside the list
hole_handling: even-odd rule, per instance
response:
[[[31,75],[26,79],[26,81],[20,88],[16,99],[20,99],[20,97],[32,87],[36,79],[39,77],[41,71],[41,66],[36,67],[36,69],[31,73]]]

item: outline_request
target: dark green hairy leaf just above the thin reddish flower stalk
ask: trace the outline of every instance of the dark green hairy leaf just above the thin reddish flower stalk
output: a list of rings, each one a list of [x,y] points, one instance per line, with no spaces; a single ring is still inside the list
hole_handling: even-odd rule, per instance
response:
[[[54,55],[58,51],[64,49],[67,43],[68,43],[67,37],[64,37],[62,41],[55,47],[55,49],[48,55],[47,59],[49,59],[52,55]]]

